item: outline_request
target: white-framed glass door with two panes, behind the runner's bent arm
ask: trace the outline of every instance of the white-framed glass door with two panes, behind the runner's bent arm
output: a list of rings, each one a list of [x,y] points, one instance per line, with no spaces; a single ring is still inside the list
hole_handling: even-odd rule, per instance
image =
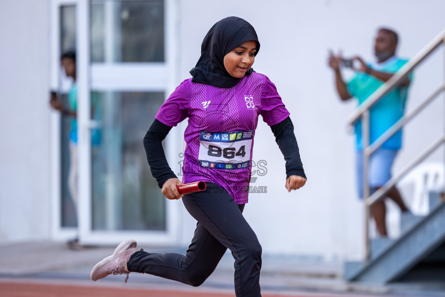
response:
[[[125,239],[175,244],[166,199],[142,140],[177,84],[175,5],[163,0],[77,0],[78,235],[84,244]],[[63,5],[60,2],[58,5]],[[59,9],[59,12],[63,9]],[[176,141],[166,139],[167,159]]]

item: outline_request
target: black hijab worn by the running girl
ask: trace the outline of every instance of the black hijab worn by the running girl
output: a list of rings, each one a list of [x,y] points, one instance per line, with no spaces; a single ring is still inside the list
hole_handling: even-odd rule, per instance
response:
[[[224,56],[246,41],[256,41],[255,56],[259,51],[259,41],[255,29],[247,21],[236,16],[220,20],[210,28],[201,45],[201,57],[190,70],[192,81],[230,88],[242,78],[231,76],[224,67]],[[249,69],[246,75],[250,75]]]

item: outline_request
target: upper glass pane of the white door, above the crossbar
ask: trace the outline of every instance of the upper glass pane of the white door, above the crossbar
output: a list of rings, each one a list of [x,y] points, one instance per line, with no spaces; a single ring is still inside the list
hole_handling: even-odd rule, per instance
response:
[[[91,2],[91,62],[164,62],[164,1]]]

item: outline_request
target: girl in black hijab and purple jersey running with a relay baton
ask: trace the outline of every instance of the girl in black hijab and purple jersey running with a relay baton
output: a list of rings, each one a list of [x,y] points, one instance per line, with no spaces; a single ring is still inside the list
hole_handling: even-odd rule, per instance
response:
[[[202,41],[192,78],[183,81],[161,106],[144,138],[148,163],[162,194],[168,199],[182,197],[198,221],[186,255],[137,251],[136,241],[125,240],[94,266],[93,281],[111,273],[127,274],[126,281],[133,271],[198,286],[229,248],[235,258],[236,296],[261,296],[261,246],[242,214],[260,114],[286,160],[287,190],[302,187],[306,176],[289,112],[275,85],[251,68],[258,51],[258,37],[247,21],[231,16],[214,24]],[[167,163],[162,140],[186,118],[182,182],[203,180],[207,190],[180,195],[176,186],[182,183]]]

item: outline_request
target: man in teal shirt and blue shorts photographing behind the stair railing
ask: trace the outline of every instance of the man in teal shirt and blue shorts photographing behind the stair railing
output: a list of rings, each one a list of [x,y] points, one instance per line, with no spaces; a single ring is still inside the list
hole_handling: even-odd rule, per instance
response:
[[[374,45],[374,54],[377,61],[366,64],[360,57],[353,57],[352,61],[358,61],[360,67],[358,69],[353,68],[356,73],[351,81],[347,83],[344,82],[340,72],[340,64],[343,58],[341,55],[335,56],[331,53],[329,66],[334,70],[336,89],[341,100],[346,101],[355,97],[360,105],[388,81],[397,70],[405,65],[408,60],[396,56],[397,42],[397,33],[387,28],[380,28]],[[375,142],[380,135],[403,116],[411,78],[407,77],[398,87],[394,88],[371,108],[369,143]],[[357,182],[361,197],[363,195],[363,152],[360,121],[356,123],[355,130],[357,140]],[[376,191],[391,179],[392,163],[398,150],[401,148],[401,141],[402,131],[400,130],[371,155],[368,173],[371,192]],[[402,212],[409,211],[396,187],[391,189],[388,197],[397,203]],[[376,227],[380,236],[388,236],[385,223],[386,206],[384,200],[380,200],[373,205],[372,215],[376,221]]]

